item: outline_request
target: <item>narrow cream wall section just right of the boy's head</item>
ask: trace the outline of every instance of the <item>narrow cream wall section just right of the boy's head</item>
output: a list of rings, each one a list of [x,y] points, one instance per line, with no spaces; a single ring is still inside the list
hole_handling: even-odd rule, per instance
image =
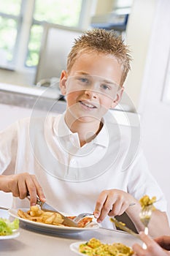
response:
[[[125,91],[138,110],[142,89],[147,50],[155,18],[156,1],[134,0],[126,29],[126,42],[130,46],[133,61],[125,82]]]

